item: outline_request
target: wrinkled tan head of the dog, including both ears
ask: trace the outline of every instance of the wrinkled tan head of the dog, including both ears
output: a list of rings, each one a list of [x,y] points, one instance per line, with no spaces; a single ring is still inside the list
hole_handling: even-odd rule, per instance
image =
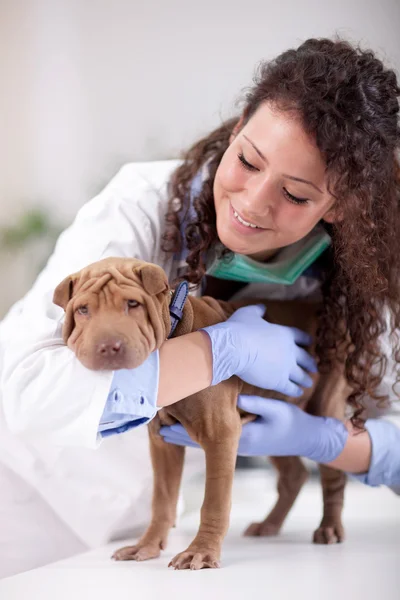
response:
[[[170,328],[163,269],[106,258],[66,277],[53,302],[65,310],[63,339],[88,369],[132,369],[159,348]]]

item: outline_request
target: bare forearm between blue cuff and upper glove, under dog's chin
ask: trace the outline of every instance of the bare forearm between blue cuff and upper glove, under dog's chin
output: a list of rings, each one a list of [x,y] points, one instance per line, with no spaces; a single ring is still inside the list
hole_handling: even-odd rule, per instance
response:
[[[158,406],[168,406],[211,385],[211,341],[204,331],[167,340],[159,352]]]

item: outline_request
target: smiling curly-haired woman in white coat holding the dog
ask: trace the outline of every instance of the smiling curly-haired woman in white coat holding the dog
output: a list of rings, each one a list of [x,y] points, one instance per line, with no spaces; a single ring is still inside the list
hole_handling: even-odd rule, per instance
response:
[[[314,369],[302,349],[306,336],[262,321],[253,307],[208,333],[166,341],[137,369],[90,371],[63,344],[63,311],[52,297],[65,276],[91,262],[136,256],[161,265],[171,282],[185,275],[198,295],[322,298],[320,363],[329,365],[349,342],[353,407],[366,395],[376,402],[382,386],[391,392],[400,324],[398,95],[395,74],[373,53],[308,40],[264,64],[241,115],[183,162],[126,165],[83,206],[0,327],[2,575],[147,520],[151,468],[145,428],[135,426],[157,406],[233,373],[298,395]],[[398,465],[391,449],[398,433],[381,435],[383,423],[368,429],[372,462],[370,450],[363,462],[338,422],[240,401],[260,415],[244,429],[243,453],[290,450],[370,473],[372,465],[370,483],[393,483],[386,475]],[[297,445],[289,446],[290,435],[280,441],[293,418],[315,445],[300,434]],[[261,446],[264,430],[273,432],[274,447]]]

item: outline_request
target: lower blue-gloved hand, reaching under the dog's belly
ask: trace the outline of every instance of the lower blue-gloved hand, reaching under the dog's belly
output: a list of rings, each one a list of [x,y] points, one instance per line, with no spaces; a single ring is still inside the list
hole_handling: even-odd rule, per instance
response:
[[[313,417],[294,404],[243,395],[238,407],[258,415],[256,421],[243,426],[240,456],[305,456],[329,463],[346,444],[348,432],[341,421]],[[170,444],[198,447],[182,425],[161,427],[160,433]]]

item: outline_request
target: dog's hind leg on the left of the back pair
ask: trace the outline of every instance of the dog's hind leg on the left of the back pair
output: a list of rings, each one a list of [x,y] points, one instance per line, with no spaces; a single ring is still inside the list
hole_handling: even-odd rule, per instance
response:
[[[264,521],[248,526],[245,536],[277,535],[308,478],[308,471],[298,456],[271,457],[270,460],[279,473],[278,499]]]

